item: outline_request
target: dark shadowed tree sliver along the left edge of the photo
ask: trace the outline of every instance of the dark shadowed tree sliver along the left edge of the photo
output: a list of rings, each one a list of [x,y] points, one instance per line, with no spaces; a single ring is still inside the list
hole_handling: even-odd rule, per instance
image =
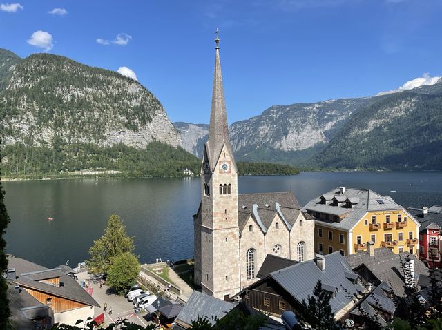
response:
[[[1,163],[1,158],[0,158]],[[1,173],[0,173],[1,175]],[[6,258],[6,240],[3,235],[6,233],[6,227],[10,222],[8,212],[6,212],[4,199],[4,190],[0,181],[0,274],[8,271],[8,259]],[[0,276],[0,329],[7,329],[10,310],[8,306],[8,284],[3,276]]]

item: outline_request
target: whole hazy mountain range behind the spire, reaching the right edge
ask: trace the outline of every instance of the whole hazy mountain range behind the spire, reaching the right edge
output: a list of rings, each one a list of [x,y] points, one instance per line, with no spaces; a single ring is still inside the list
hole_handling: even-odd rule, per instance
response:
[[[439,79],[393,94],[274,105],[232,123],[231,143],[240,161],[327,169],[442,169],[441,96]],[[206,130],[180,125],[186,127],[183,147],[193,154],[195,147],[202,150]],[[184,130],[177,129],[183,136]]]

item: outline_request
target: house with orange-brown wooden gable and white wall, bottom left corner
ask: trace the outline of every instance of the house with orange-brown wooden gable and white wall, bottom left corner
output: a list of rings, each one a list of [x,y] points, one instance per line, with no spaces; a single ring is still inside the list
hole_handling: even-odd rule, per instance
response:
[[[68,276],[72,273],[70,267],[48,269],[8,255],[6,276],[12,322],[22,329],[30,329],[26,324],[32,323],[49,329],[52,324],[75,325],[77,320],[93,318],[94,306],[99,305],[75,278]]]

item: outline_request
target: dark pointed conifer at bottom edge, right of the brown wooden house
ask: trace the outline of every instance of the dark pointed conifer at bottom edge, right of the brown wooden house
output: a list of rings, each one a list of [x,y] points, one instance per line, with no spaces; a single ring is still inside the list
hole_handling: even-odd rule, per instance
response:
[[[325,291],[320,280],[318,280],[313,296],[309,295],[307,302],[302,300],[299,316],[304,327],[311,327],[315,330],[340,329],[334,320],[330,299],[332,299],[332,293]]]

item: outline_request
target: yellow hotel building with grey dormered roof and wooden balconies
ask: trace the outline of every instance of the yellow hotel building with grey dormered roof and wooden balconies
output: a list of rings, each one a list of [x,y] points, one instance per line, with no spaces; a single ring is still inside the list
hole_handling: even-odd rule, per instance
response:
[[[390,196],[367,189],[338,187],[314,200],[304,209],[316,218],[315,251],[343,256],[374,247],[388,247],[394,253],[419,254],[419,226],[405,207]]]

